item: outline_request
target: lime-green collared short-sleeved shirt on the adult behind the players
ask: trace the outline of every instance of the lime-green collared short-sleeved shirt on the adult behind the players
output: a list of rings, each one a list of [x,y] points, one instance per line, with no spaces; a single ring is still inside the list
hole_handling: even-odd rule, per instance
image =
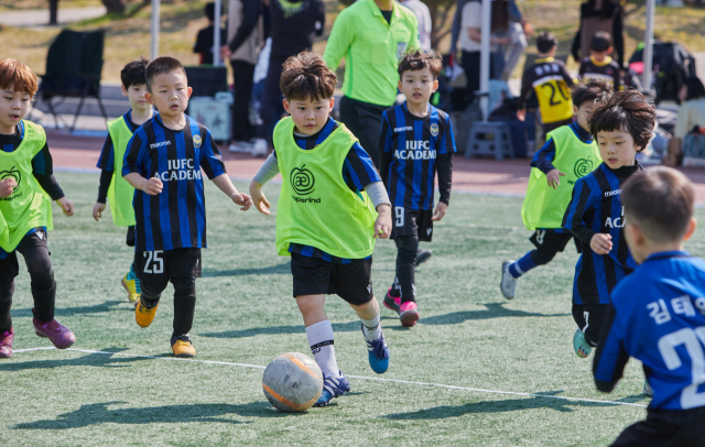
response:
[[[397,98],[399,59],[411,48],[419,48],[419,20],[409,8],[393,2],[387,23],[375,0],[358,0],[336,18],[323,58],[335,72],[345,57],[345,96],[389,107]]]

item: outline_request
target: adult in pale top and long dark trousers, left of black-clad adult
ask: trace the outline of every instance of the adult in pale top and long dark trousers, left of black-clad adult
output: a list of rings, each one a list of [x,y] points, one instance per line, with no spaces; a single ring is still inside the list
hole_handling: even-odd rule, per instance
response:
[[[254,66],[267,39],[265,17],[267,7],[260,0],[228,2],[228,44],[220,47],[220,57],[230,61],[235,86],[230,152],[252,151],[254,127],[250,123],[249,108]]]

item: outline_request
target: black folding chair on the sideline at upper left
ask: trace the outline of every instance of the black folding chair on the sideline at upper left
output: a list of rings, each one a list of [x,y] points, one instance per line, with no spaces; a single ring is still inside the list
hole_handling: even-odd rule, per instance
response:
[[[40,75],[42,83],[37,97],[46,102],[50,112],[54,116],[56,127],[59,120],[63,121],[56,108],[66,98],[80,98],[70,127],[72,131],[76,128],[84,101],[88,97],[98,100],[100,112],[106,122],[108,121],[108,113],[100,100],[104,41],[105,30],[89,32],[64,30],[48,47],[46,74]]]

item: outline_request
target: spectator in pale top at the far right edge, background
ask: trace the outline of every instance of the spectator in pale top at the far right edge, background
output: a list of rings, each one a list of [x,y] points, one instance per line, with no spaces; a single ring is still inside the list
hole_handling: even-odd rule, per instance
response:
[[[685,79],[679,99],[682,106],[679,118],[675,121],[673,138],[669,141],[669,153],[663,159],[663,164],[676,166],[683,160],[683,139],[693,132],[694,128],[705,127],[705,87],[697,77]]]

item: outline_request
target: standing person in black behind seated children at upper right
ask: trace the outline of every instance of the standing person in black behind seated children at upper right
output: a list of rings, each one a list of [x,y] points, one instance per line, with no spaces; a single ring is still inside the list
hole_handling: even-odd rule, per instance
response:
[[[625,67],[625,35],[622,32],[622,9],[610,0],[588,0],[581,6],[581,28],[573,40],[573,58],[579,62],[590,54],[590,42],[598,31],[606,31],[612,37],[614,52],[620,69]]]

